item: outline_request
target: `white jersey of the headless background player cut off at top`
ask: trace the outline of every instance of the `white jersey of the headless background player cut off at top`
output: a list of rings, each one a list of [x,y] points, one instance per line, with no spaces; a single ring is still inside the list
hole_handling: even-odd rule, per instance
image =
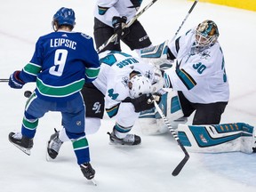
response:
[[[97,0],[94,17],[112,27],[114,16],[125,16],[127,21],[131,20],[140,9],[141,2],[142,0]]]

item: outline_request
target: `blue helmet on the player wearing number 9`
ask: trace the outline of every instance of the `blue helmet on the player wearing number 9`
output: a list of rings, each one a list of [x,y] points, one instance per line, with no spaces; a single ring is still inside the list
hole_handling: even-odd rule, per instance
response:
[[[75,12],[66,7],[61,7],[60,10],[53,15],[53,22],[57,22],[59,26],[70,25],[74,28],[76,25],[75,20]]]

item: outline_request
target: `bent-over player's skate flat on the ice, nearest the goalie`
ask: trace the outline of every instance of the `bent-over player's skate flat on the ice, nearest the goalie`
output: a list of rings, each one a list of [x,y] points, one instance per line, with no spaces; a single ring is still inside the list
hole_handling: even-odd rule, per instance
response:
[[[111,133],[108,132],[110,144],[132,146],[132,145],[139,145],[141,142],[140,136],[138,136],[138,135],[127,134],[123,139],[120,139],[120,138],[116,137],[116,134],[114,131],[115,130],[113,129],[113,131]]]

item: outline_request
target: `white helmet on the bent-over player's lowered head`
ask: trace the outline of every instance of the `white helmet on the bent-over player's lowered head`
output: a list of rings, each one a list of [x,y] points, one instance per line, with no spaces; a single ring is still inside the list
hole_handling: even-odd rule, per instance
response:
[[[151,92],[151,82],[148,77],[141,74],[132,76],[129,81],[129,93],[132,99],[140,97],[142,94]]]

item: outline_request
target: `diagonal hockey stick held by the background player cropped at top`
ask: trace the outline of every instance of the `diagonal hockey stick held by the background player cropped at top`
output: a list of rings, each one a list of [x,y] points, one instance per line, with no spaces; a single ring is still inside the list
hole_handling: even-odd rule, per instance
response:
[[[138,12],[133,18],[132,20],[130,20],[127,24],[124,25],[124,28],[129,28],[132,23],[137,20],[140,15],[143,13],[143,12],[146,12],[146,10],[148,10],[148,8],[152,5],[152,4],[155,4],[157,0],[152,0],[147,6],[145,6],[140,12]],[[123,28],[123,29],[124,29]],[[106,41],[104,44],[102,44],[96,51],[97,52],[101,52],[106,46],[108,46],[108,44],[110,44],[114,39],[116,39],[117,37],[117,34],[115,33],[114,35],[110,36],[108,41]]]

